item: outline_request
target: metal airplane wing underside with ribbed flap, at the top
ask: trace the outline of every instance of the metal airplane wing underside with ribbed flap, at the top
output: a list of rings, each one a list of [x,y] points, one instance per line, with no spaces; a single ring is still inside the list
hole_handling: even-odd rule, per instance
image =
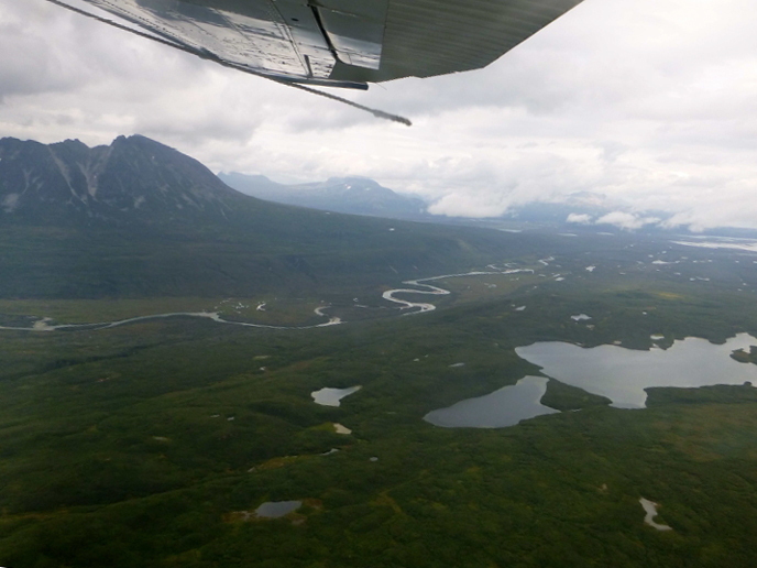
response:
[[[484,67],[582,0],[84,0],[278,80],[365,88]]]

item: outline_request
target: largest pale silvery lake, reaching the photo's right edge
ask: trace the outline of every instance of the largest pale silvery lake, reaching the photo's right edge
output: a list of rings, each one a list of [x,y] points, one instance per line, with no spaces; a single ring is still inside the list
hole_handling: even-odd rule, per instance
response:
[[[645,389],[650,386],[695,387],[713,384],[757,383],[757,365],[731,358],[736,349],[749,351],[757,338],[748,334],[723,345],[688,337],[668,349],[649,351],[618,346],[582,348],[559,341],[518,347],[515,352],[541,367],[541,372],[560,382],[610,398],[619,408],[644,408]]]

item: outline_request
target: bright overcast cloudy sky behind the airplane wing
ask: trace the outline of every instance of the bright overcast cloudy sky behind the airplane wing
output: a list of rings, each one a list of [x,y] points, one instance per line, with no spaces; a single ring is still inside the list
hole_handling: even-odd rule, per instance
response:
[[[485,69],[345,94],[407,128],[0,0],[0,136],[140,133],[215,172],[367,176],[440,215],[594,192],[636,209],[616,225],[757,228],[756,21],[754,0],[585,0]]]

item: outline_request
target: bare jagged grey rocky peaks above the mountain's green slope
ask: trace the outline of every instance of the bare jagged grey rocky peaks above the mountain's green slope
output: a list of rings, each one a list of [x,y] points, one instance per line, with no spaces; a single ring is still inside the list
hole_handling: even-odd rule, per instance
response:
[[[7,221],[220,220],[244,199],[196,160],[141,135],[91,149],[78,140],[0,140]]]

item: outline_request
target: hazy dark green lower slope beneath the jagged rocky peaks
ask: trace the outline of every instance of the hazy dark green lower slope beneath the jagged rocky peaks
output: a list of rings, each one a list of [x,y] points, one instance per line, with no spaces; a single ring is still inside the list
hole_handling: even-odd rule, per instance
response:
[[[1,298],[355,294],[483,266],[546,237],[358,218],[271,204],[245,227],[0,226]],[[553,238],[551,240],[555,240]]]

